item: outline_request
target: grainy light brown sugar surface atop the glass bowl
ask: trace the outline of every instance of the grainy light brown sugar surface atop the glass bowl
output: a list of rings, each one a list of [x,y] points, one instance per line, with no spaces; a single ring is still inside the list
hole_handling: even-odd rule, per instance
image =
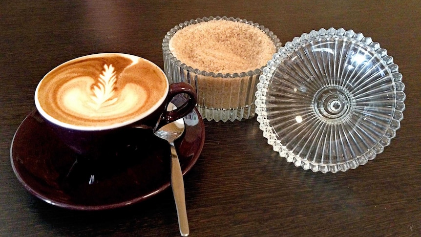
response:
[[[224,74],[260,68],[276,51],[274,43],[262,30],[227,20],[188,25],[174,34],[169,49],[188,66]]]

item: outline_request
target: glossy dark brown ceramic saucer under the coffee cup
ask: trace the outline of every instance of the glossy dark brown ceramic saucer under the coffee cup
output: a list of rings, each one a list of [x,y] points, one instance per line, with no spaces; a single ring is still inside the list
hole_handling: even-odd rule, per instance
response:
[[[172,103],[181,106],[184,97]],[[196,163],[205,141],[203,120],[194,109],[185,118],[186,131],[176,140],[183,174]],[[21,123],[10,150],[13,170],[23,186],[52,205],[74,210],[105,210],[143,201],[170,185],[169,146],[151,132],[133,129],[139,137],[92,167],[75,163],[79,154],[46,128],[35,109]],[[91,184],[89,184],[91,182]]]

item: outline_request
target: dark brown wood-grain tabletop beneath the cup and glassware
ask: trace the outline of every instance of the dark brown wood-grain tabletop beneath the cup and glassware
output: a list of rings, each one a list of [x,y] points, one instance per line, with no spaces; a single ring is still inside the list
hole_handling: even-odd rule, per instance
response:
[[[205,146],[185,176],[190,236],[421,236],[421,4],[401,1],[4,1],[0,8],[0,236],[178,236],[171,190],[126,208],[83,212],[29,194],[10,144],[34,91],[67,60],[99,52],[163,67],[174,25],[233,16],[282,43],[321,27],[370,36],[403,75],[406,109],[390,146],[347,172],[296,168],[267,144],[255,118],[205,122]],[[30,141],[28,141],[30,142]]]

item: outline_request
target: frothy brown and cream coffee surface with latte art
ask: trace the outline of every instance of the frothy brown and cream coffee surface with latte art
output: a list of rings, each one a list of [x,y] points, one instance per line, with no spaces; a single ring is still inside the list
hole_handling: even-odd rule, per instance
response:
[[[54,68],[38,85],[35,101],[44,116],[62,126],[100,128],[145,117],[167,92],[167,78],[158,66],[140,57],[107,53]]]

